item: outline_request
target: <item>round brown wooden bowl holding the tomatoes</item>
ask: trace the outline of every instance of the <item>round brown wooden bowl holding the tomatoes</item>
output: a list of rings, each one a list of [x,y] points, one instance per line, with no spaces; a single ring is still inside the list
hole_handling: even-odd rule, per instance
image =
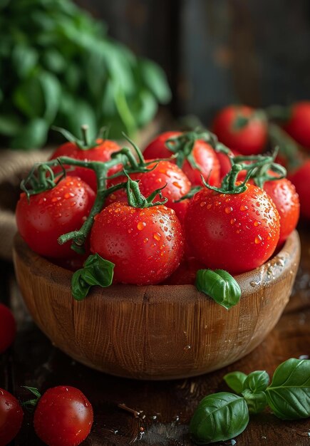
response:
[[[237,306],[226,310],[193,285],[95,287],[71,296],[71,271],[35,254],[16,235],[16,276],[34,321],[62,351],[126,378],[187,378],[247,355],[275,326],[299,265],[297,232],[266,264],[236,276]]]

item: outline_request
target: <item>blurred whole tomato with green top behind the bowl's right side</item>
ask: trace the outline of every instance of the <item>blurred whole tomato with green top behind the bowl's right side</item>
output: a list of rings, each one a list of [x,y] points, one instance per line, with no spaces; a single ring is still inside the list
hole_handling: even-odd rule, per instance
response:
[[[267,143],[266,119],[246,105],[229,105],[220,110],[212,128],[220,142],[242,155],[257,155]]]

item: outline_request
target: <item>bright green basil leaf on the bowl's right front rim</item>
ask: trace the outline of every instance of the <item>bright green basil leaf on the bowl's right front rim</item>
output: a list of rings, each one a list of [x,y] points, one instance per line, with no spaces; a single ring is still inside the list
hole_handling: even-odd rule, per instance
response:
[[[196,274],[196,288],[227,310],[238,304],[241,297],[239,284],[223,269],[199,269]]]

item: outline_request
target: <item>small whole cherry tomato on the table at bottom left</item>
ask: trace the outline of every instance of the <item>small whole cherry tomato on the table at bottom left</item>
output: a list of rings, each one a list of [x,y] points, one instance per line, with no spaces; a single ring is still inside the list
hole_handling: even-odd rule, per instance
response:
[[[38,400],[33,423],[46,445],[76,446],[91,432],[93,408],[81,390],[60,385]]]

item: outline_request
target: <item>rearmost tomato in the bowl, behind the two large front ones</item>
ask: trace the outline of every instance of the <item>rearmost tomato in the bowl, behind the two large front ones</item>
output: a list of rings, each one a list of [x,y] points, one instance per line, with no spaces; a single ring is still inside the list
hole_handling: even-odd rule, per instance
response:
[[[202,136],[201,136],[202,138]],[[174,139],[174,141],[169,141]],[[175,152],[174,146],[178,146]],[[193,186],[201,185],[201,175],[210,185],[219,183],[219,160],[212,146],[200,139],[195,132],[165,132],[158,135],[145,147],[143,155],[146,159],[168,158],[174,154],[175,162],[190,180]]]

